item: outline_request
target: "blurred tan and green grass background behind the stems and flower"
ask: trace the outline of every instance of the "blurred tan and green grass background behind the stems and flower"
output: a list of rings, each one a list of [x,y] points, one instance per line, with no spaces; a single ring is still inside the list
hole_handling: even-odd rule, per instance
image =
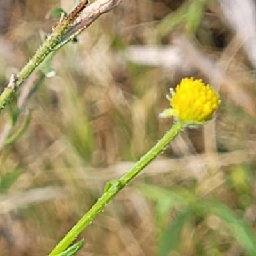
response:
[[[0,1],[1,90],[76,2]],[[79,255],[256,255],[253,6],[236,23],[227,2],[124,0],[26,81],[1,113],[0,255],[47,255],[170,128],[168,88],[190,76],[220,90],[216,119],[116,196]]]

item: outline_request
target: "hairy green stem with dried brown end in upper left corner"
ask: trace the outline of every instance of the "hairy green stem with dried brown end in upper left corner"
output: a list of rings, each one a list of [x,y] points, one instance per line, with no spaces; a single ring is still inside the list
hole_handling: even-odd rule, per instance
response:
[[[78,35],[100,15],[109,12],[121,1],[122,0],[98,0],[85,8],[88,0],[83,0],[67,17],[62,17],[56,28],[53,29],[51,35],[47,36],[47,39],[38,48],[24,68],[20,70],[19,74],[12,74],[10,77],[8,86],[4,88],[4,91],[0,95],[0,111],[2,111],[4,106],[8,104],[12,99],[15,90],[20,88],[22,83],[24,83],[24,81],[31,75],[35,68],[61,44],[63,38],[72,38]],[[13,77],[15,78],[14,81]]]

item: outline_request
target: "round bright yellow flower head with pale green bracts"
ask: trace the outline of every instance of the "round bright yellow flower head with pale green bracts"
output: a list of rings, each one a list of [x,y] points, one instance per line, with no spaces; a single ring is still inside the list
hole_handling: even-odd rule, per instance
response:
[[[188,125],[203,124],[209,121],[220,105],[219,95],[210,85],[202,80],[191,78],[182,79],[176,87],[176,92],[170,89],[172,109],[166,109],[160,116],[175,116]]]

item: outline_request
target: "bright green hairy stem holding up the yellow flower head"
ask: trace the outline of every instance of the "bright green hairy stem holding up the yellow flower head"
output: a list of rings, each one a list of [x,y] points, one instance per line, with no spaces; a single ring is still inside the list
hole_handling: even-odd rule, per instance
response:
[[[92,208],[84,214],[84,216],[77,222],[77,224],[68,232],[68,234],[57,244],[57,246],[52,250],[49,256],[56,256],[63,252],[71,243],[74,241],[77,236],[86,228],[90,223],[92,223],[95,216],[97,216],[112,200],[112,198],[126,186],[131,180],[138,175],[138,173],[145,168],[152,160],[154,160],[164,149],[169,145],[184,126],[180,122],[176,122],[172,129],[168,131],[157,144],[152,147],[147,154],[145,154],[141,159],[119,180],[105,191],[105,193],[99,198],[97,203],[92,206]]]

